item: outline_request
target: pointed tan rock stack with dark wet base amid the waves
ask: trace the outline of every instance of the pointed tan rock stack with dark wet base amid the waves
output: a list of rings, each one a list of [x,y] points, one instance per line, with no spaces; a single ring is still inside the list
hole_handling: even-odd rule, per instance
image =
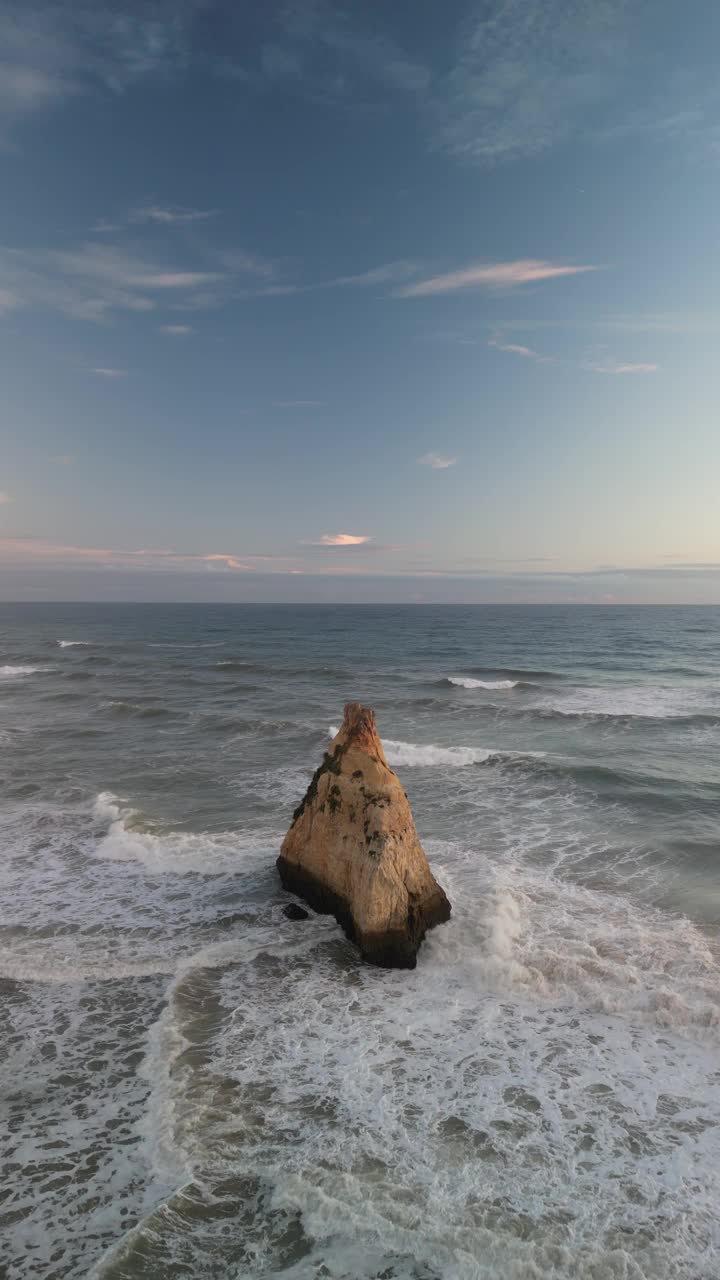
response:
[[[372,964],[414,969],[425,931],[450,919],[368,707],[345,708],[278,870],[287,890],[334,915]]]

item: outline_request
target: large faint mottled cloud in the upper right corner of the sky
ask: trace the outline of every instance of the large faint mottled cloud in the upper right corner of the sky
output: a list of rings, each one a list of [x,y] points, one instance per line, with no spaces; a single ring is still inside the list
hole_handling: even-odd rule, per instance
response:
[[[428,99],[433,145],[486,165],[578,138],[715,146],[711,64],[659,50],[656,27],[643,0],[475,0]]]

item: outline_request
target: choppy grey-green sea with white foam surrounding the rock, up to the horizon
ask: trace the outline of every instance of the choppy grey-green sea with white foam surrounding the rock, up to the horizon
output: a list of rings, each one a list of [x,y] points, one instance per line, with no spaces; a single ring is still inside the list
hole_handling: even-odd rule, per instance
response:
[[[418,969],[274,859],[372,703]],[[0,608],[19,1277],[716,1280],[720,609]]]

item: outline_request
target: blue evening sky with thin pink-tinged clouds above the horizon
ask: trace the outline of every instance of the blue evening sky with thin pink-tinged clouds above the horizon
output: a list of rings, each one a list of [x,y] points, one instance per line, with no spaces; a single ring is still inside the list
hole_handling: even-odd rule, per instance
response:
[[[716,0],[0,0],[0,599],[720,603]]]

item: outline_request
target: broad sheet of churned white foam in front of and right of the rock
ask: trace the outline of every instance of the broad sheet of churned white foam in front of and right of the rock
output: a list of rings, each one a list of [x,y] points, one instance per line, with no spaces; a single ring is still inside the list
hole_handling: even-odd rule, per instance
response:
[[[354,964],[316,918],[183,966],[145,1069],[164,1160],[211,1188],[241,1157],[269,1183],[258,1277],[720,1274],[702,936],[477,849],[429,854],[455,910],[415,973]],[[310,1242],[287,1267],[278,1213]],[[191,1236],[172,1231],[179,1257]]]

